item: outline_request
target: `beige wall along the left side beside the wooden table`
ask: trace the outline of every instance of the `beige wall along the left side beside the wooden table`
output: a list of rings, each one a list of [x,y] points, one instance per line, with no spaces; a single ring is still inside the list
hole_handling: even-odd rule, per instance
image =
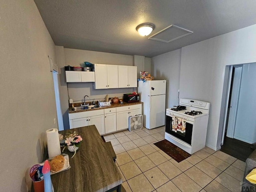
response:
[[[57,128],[55,46],[32,0],[1,0],[0,25],[0,191],[23,192],[26,169],[42,161],[39,139]]]

